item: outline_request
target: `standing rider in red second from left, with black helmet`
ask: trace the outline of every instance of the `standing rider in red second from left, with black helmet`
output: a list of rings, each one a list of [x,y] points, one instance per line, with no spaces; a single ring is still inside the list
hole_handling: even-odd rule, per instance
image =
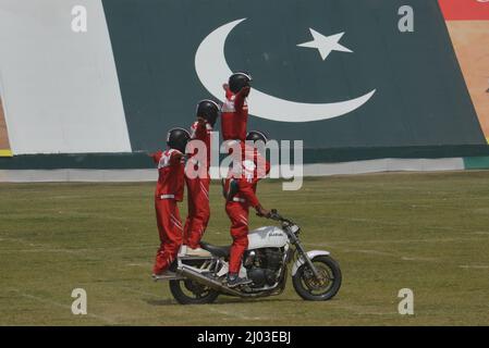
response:
[[[209,252],[200,248],[200,239],[207,228],[210,216],[209,186],[210,186],[210,133],[219,116],[219,105],[212,100],[201,100],[197,104],[197,121],[191,127],[190,152],[193,154],[192,140],[200,140],[206,146],[206,163],[201,163],[191,154],[188,164],[197,171],[196,177],[185,175],[188,200],[188,216],[184,227],[184,245],[187,256],[208,256]]]

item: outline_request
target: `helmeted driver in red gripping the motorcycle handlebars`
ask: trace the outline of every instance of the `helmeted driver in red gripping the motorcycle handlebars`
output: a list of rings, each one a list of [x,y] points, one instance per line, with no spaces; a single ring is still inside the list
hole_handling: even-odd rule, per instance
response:
[[[267,142],[267,137],[257,130],[249,132],[245,139],[254,142],[257,140]],[[270,164],[258,153],[255,147],[245,148],[246,156],[242,160],[240,173],[231,170],[224,182],[225,212],[231,220],[230,232],[233,238],[227,278],[229,287],[252,283],[250,279],[239,276],[243,253],[248,247],[249,207],[255,208],[259,216],[270,216],[270,212],[260,204],[256,196],[258,181],[268,174]]]

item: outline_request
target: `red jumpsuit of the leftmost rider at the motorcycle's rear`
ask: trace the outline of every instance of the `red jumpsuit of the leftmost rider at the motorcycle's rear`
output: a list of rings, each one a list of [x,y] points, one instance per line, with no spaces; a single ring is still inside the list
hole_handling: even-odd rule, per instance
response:
[[[183,241],[182,221],[176,202],[183,199],[183,153],[175,149],[152,154],[158,163],[158,183],[155,190],[155,209],[160,248],[156,256],[154,273],[168,270],[179,253]]]

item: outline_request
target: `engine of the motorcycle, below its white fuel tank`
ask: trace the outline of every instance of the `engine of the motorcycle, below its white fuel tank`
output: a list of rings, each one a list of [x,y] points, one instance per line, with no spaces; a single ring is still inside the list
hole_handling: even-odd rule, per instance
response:
[[[276,284],[277,273],[282,265],[282,248],[249,250],[244,256],[244,266],[254,286],[262,287]]]

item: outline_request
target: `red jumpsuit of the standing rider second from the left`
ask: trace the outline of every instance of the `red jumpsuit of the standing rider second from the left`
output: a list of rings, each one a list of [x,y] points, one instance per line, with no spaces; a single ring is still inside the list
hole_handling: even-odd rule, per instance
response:
[[[207,148],[207,163],[197,163],[193,157],[188,159],[190,164],[194,163],[199,175],[195,178],[185,175],[187,187],[188,215],[185,221],[183,244],[196,249],[207,228],[210,216],[209,208],[209,186],[210,186],[210,133],[212,126],[208,123],[195,122],[191,127],[192,139],[204,141]],[[190,142],[191,153],[192,142]]]

